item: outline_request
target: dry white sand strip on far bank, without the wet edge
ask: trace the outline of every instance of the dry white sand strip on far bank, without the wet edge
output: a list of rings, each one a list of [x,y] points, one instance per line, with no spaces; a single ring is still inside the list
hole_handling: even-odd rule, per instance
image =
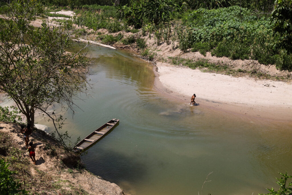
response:
[[[272,80],[231,77],[157,63],[159,81],[166,89],[191,98],[277,108],[292,107],[292,85]],[[273,87],[274,86],[274,87]]]

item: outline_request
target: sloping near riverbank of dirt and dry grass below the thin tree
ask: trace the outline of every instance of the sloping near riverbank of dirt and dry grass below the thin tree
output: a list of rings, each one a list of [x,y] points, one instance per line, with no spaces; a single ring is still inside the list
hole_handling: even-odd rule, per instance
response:
[[[81,164],[79,156],[65,151],[42,131],[34,131],[30,140],[36,146],[36,165],[32,164],[20,133],[20,125],[0,122],[1,158],[24,180],[30,194],[124,194],[117,184],[93,175]],[[15,156],[19,151],[20,161]],[[22,175],[22,171],[24,175]]]

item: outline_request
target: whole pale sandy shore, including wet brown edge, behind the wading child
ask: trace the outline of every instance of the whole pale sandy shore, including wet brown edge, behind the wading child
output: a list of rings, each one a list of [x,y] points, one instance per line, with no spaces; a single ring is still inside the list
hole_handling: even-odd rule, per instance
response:
[[[291,83],[232,77],[157,62],[156,88],[189,102],[196,94],[200,106],[248,117],[292,121]]]

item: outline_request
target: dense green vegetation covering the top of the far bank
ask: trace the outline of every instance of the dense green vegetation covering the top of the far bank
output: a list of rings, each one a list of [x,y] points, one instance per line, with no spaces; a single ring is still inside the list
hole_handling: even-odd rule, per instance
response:
[[[291,1],[276,1],[275,6],[271,1],[239,4],[215,0],[140,0],[121,1],[119,6],[101,5],[105,4],[80,5],[75,10],[79,14],[75,23],[94,30],[105,28],[110,33],[130,32],[129,26],[134,26],[142,29],[143,36],[153,34],[158,45],[166,42],[184,52],[191,49],[206,55],[210,51],[217,57],[254,59],[265,65],[276,64],[280,70],[292,70]]]

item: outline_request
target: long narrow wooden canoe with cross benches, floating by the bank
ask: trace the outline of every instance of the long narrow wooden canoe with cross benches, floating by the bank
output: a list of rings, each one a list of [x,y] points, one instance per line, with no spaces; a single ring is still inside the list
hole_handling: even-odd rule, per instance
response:
[[[101,139],[109,130],[111,130],[117,123],[119,122],[119,119],[112,119],[109,122],[105,123],[101,127],[99,127],[97,130],[93,131],[91,134],[86,136],[84,139],[82,139],[76,146],[74,147],[74,151],[78,152],[81,150],[84,150],[91,146],[93,143]]]

